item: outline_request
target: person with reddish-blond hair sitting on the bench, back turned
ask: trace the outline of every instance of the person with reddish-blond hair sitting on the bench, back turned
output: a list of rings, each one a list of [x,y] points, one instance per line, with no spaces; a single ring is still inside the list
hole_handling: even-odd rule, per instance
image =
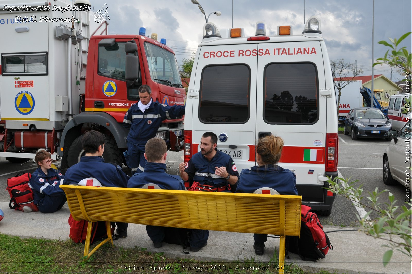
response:
[[[236,192],[253,193],[261,187],[270,187],[282,195],[297,195],[296,175],[276,163],[279,162],[283,149],[283,139],[267,135],[258,141],[256,162],[258,166],[243,169],[239,175]],[[254,234],[256,255],[263,255],[267,234]]]

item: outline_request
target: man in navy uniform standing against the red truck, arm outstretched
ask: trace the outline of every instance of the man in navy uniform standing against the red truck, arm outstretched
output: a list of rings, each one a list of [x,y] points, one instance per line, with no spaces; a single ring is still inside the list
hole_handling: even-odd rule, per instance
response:
[[[165,119],[185,115],[185,106],[167,106],[153,102],[152,90],[148,85],[139,87],[139,102],[130,107],[123,119],[123,126],[130,129],[127,135],[127,165],[132,173],[145,170],[145,145],[156,137],[156,132]]]

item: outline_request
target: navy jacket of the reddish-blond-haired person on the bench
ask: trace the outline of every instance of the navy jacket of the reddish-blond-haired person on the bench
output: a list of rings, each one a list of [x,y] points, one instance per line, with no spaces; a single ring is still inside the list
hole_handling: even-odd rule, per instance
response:
[[[282,195],[297,195],[296,175],[279,165],[253,166],[240,172],[236,192],[253,193],[271,187]]]

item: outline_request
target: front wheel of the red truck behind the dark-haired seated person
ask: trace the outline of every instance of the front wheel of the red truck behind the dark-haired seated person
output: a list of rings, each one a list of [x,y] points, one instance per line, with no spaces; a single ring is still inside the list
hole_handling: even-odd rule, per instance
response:
[[[85,154],[82,146],[82,138],[83,135],[80,135],[70,145],[67,157],[69,166],[79,163],[80,158]],[[115,140],[107,136],[105,136],[103,159],[106,163],[115,163],[116,165],[122,166],[122,154],[117,148]]]

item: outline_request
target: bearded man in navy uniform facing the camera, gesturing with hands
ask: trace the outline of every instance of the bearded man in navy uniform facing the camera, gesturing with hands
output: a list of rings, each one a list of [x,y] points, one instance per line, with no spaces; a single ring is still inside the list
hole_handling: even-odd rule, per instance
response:
[[[230,192],[230,185],[236,184],[239,177],[232,157],[216,149],[218,137],[206,132],[200,139],[200,151],[194,154],[189,163],[180,163],[179,172],[183,181],[193,181],[192,191]],[[206,246],[208,230],[192,230],[190,250],[199,251]]]

